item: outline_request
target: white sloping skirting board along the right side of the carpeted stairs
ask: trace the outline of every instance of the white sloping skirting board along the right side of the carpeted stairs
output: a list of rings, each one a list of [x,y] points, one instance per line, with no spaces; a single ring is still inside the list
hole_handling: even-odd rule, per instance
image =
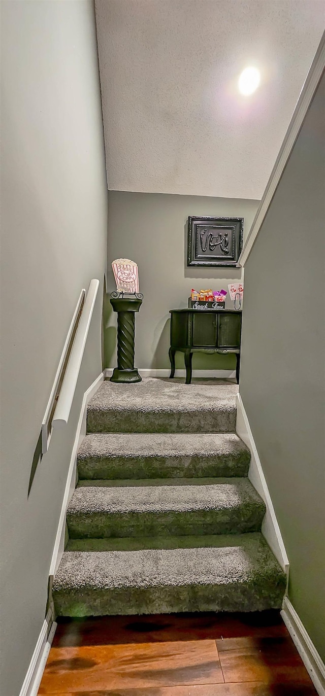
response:
[[[271,551],[273,551],[275,558],[280,563],[282,570],[285,571],[288,577],[289,560],[285,551],[285,544],[283,544],[283,539],[281,536],[278,521],[275,516],[271,496],[263,473],[262,464],[259,460],[257,448],[254,442],[254,438],[252,436],[250,424],[248,422],[247,413],[244,409],[240,394],[236,395],[236,406],[236,433],[241,438],[241,440],[243,440],[245,445],[248,446],[248,449],[250,450],[251,454],[248,478],[257,490],[257,493],[259,493],[259,495],[261,496],[262,500],[264,500],[264,503],[266,505],[266,514],[262,522],[262,534],[266,539],[267,543],[269,544]]]

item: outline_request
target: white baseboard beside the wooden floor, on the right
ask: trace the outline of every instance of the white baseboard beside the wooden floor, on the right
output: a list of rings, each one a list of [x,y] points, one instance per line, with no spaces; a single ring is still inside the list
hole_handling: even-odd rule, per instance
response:
[[[283,600],[281,616],[319,696],[325,696],[325,665],[291,601]]]

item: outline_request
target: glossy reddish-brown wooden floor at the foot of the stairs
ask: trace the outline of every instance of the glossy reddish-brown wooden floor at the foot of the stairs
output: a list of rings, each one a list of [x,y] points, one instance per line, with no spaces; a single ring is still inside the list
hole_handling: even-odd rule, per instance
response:
[[[60,622],[39,695],[315,696],[278,612]]]

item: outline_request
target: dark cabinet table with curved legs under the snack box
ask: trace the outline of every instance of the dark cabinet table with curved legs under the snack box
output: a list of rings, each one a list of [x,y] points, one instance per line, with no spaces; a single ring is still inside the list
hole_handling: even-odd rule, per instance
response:
[[[192,354],[199,351],[236,354],[236,380],[239,383],[241,355],[241,310],[172,309],[169,312],[172,365],[170,378],[175,374],[176,350],[184,353],[186,384],[192,379]]]

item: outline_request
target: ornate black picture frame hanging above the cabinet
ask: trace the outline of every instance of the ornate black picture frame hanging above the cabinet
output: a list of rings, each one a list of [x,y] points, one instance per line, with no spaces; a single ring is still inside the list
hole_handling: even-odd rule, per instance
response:
[[[236,266],[243,248],[243,218],[188,218],[188,266]]]

